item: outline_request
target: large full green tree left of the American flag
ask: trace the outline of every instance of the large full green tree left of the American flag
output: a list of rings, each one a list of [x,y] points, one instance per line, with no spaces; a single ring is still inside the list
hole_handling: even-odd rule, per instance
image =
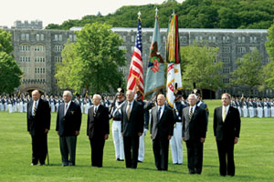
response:
[[[63,63],[58,65],[58,86],[80,93],[110,92],[123,80],[119,66],[125,66],[122,40],[111,31],[111,25],[85,25],[77,34],[77,42],[67,44],[62,52]],[[61,82],[67,82],[62,84]]]

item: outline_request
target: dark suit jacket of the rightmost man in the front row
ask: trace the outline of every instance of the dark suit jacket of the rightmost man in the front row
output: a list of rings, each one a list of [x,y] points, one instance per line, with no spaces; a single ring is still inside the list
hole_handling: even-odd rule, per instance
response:
[[[236,137],[239,137],[240,124],[241,120],[237,108],[229,106],[226,120],[223,122],[222,106],[216,107],[213,124],[216,140],[234,140]]]

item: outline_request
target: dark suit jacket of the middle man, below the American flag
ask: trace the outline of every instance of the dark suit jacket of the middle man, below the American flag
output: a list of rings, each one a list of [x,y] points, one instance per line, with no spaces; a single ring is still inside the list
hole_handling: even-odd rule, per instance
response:
[[[128,102],[125,102],[121,106],[121,133],[123,133],[123,136],[138,136],[138,133],[143,132],[143,107],[140,103],[134,101],[131,116],[128,119],[126,111]]]

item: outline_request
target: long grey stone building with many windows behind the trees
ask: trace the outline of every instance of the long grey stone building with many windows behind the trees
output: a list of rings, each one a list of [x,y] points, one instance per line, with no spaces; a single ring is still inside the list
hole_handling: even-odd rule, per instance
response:
[[[24,26],[25,25],[25,26]],[[21,93],[38,88],[47,94],[58,95],[61,90],[56,85],[55,64],[62,61],[61,51],[66,42],[74,42],[77,37],[74,31],[80,27],[73,27],[70,30],[46,30],[41,28],[39,22],[28,24],[16,22],[12,28],[6,28],[13,35],[14,55],[17,63],[22,67],[24,76],[22,85],[19,87]],[[123,45],[121,49],[126,51],[127,66],[120,67],[125,80],[129,74],[132,51],[135,44],[137,28],[114,27],[112,31],[121,35]],[[163,59],[165,57],[165,40],[167,29],[161,28]],[[236,68],[237,58],[257,48],[263,56],[262,64],[269,62],[269,56],[265,48],[268,30],[266,29],[179,29],[180,45],[190,45],[193,42],[207,41],[209,45],[219,47],[217,59],[224,62],[223,74],[224,83],[229,83],[229,73]],[[142,28],[142,61],[143,73],[146,74],[146,66],[149,60],[150,45],[153,38],[153,28]],[[210,91],[212,97],[219,97],[223,92],[232,95],[248,96],[245,87],[231,87],[226,90],[218,89]],[[253,90],[254,96],[273,96],[272,90],[258,92]],[[208,90],[205,90],[205,97],[209,97]]]

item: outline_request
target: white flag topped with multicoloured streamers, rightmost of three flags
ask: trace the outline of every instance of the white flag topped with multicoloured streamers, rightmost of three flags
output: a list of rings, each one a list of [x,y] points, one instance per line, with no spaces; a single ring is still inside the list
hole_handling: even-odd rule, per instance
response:
[[[182,89],[181,76],[181,56],[180,56],[180,42],[178,30],[178,16],[171,15],[166,39],[166,62],[167,66],[167,81],[166,81],[166,98],[169,106],[174,108],[174,91],[175,85],[177,90]]]

